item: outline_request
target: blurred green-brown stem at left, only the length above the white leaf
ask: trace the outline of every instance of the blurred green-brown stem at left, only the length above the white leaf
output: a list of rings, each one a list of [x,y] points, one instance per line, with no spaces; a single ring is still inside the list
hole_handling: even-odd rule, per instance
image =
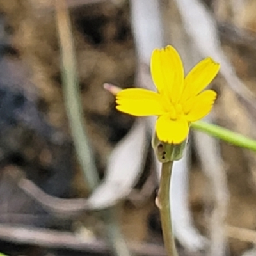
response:
[[[86,136],[82,102],[77,76],[76,54],[72,40],[71,22],[65,0],[56,0],[56,22],[60,38],[63,94],[67,109],[70,131],[76,148],[77,157],[81,164],[84,180],[90,191],[97,187],[99,177],[93,163],[90,143]]]

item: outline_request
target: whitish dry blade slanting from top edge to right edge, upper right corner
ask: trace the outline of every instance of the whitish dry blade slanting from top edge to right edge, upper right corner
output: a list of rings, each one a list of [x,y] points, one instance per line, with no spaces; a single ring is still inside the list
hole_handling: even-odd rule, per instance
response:
[[[202,56],[211,56],[214,60],[221,63],[221,74],[227,80],[228,85],[244,106],[248,109],[252,117],[256,120],[256,98],[252,92],[237,77],[230,61],[223,53],[218,36],[216,20],[205,8],[204,4],[198,0],[176,0],[175,1],[188,35],[202,54]],[[193,10],[193,12],[191,12]]]

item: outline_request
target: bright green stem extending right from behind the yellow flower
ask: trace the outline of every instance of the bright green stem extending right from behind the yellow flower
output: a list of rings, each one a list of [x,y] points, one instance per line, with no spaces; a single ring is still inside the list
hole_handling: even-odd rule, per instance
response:
[[[192,122],[191,127],[221,140],[227,141],[232,145],[256,151],[256,141],[237,132],[232,132],[218,125],[209,124],[203,121]]]

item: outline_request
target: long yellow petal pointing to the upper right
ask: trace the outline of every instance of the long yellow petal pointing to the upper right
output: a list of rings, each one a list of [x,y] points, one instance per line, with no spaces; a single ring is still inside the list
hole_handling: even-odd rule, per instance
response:
[[[214,62],[212,58],[205,58],[200,61],[185,77],[181,102],[185,102],[202,92],[218,74],[219,70],[220,64]]]

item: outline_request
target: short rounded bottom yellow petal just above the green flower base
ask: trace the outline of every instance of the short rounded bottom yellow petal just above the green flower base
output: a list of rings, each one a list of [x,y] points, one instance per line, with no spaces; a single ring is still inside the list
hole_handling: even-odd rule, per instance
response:
[[[162,115],[156,121],[156,135],[160,141],[170,144],[180,144],[186,139],[189,132],[188,121],[184,116],[171,120],[170,116]]]

